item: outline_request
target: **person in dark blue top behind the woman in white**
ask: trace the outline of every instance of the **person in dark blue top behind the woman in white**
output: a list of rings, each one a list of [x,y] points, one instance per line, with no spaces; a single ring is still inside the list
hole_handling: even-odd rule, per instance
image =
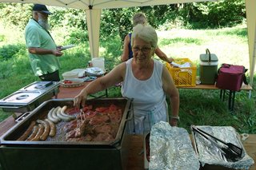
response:
[[[144,26],[146,26],[146,16],[142,13],[137,13],[134,14],[134,18],[133,18],[133,26],[137,26],[138,24],[142,24]],[[121,56],[121,61],[127,61],[130,58],[134,57],[133,55],[133,51],[131,48],[131,33],[126,35],[126,38],[124,40],[124,45],[123,45],[123,53]],[[157,56],[159,58],[162,59],[162,61],[166,61],[166,62],[172,62],[174,61],[174,59],[172,57],[168,58],[166,56],[166,53],[163,53],[161,49],[159,49],[158,47],[155,49],[155,54],[157,54]]]

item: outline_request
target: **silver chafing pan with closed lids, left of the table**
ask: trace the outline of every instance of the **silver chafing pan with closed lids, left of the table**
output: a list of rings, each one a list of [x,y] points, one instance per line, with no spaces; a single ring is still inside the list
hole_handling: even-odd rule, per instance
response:
[[[59,82],[35,81],[0,100],[5,112],[26,113],[58,93]]]

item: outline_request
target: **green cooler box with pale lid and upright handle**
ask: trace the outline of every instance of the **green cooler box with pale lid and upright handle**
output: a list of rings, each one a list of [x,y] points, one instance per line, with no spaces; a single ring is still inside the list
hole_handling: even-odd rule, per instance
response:
[[[206,53],[200,54],[200,81],[201,84],[214,85],[218,70],[218,57],[206,49]]]

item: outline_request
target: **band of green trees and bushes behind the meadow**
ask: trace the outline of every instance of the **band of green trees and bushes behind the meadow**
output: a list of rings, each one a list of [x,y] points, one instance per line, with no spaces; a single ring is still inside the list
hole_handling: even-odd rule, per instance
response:
[[[1,4],[0,17],[6,24],[24,29],[31,17],[33,4]],[[86,30],[86,11],[49,7],[50,24],[56,27],[74,27]],[[137,12],[146,14],[148,22],[154,28],[169,30],[177,26],[186,28],[218,28],[236,26],[246,18],[244,0],[219,0],[218,2],[193,2],[162,6],[142,6],[102,10],[100,36],[104,40],[119,34],[123,40],[132,30],[131,19]],[[70,40],[71,41],[71,40]]]

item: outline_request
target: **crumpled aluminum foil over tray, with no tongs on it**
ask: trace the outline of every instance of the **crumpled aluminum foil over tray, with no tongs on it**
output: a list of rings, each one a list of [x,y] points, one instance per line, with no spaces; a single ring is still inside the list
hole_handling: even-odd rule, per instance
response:
[[[198,170],[199,168],[198,156],[194,152],[189,133],[185,128],[171,127],[164,121],[152,127],[150,170]]]

